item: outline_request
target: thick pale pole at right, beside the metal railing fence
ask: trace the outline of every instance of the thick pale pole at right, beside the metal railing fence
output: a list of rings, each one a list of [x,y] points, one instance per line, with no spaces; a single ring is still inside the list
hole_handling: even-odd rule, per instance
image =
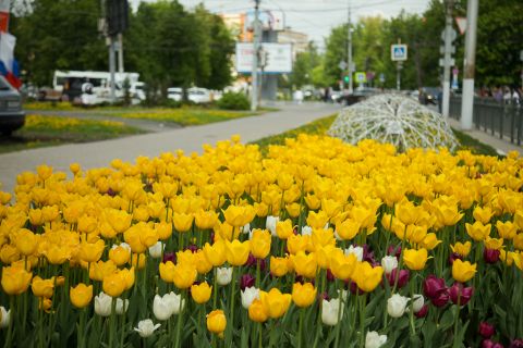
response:
[[[474,71],[476,65],[477,0],[466,3],[465,63],[463,69],[463,98],[461,101],[461,128],[472,129],[474,111]]]

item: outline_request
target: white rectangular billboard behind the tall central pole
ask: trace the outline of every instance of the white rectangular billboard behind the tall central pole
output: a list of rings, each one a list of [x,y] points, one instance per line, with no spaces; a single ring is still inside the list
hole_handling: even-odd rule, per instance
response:
[[[292,46],[291,44],[263,42],[260,47],[267,52],[267,65],[265,73],[282,74],[292,72]],[[236,42],[236,71],[251,73],[253,71],[253,44]]]

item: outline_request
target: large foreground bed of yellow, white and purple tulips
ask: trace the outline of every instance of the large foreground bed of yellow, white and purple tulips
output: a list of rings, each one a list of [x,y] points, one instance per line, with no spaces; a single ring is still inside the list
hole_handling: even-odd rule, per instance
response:
[[[5,347],[521,347],[515,153],[239,140],[20,174]]]

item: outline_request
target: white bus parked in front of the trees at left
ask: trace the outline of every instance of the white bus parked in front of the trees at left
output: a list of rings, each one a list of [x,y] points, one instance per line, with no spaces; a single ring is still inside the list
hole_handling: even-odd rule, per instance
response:
[[[138,73],[115,73],[115,96],[121,99],[124,96],[125,79],[130,84],[131,98],[135,102],[145,100],[144,83],[138,80]],[[66,96],[72,102],[82,104],[97,104],[110,101],[111,74],[108,72],[90,71],[56,71],[52,79],[56,91]],[[80,100],[80,101],[78,101]]]

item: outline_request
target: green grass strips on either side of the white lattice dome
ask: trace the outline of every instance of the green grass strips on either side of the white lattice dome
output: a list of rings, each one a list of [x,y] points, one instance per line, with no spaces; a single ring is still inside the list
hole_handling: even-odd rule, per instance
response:
[[[266,154],[268,147],[270,145],[284,145],[285,138],[296,138],[297,135],[301,133],[306,133],[312,135],[325,135],[325,133],[329,129],[332,122],[335,122],[336,116],[337,114],[333,114],[324,119],[319,119],[311,123],[307,123],[301,127],[297,127],[295,129],[288,130],[278,135],[269,136],[266,138],[262,138],[257,141],[254,141],[253,144],[257,144],[260,148],[262,153]],[[455,137],[461,144],[459,150],[470,150],[471,152],[476,154],[486,154],[486,156],[496,156],[496,157],[498,156],[496,149],[494,149],[492,147],[476,140],[460,130],[452,128],[452,132],[454,133]]]

